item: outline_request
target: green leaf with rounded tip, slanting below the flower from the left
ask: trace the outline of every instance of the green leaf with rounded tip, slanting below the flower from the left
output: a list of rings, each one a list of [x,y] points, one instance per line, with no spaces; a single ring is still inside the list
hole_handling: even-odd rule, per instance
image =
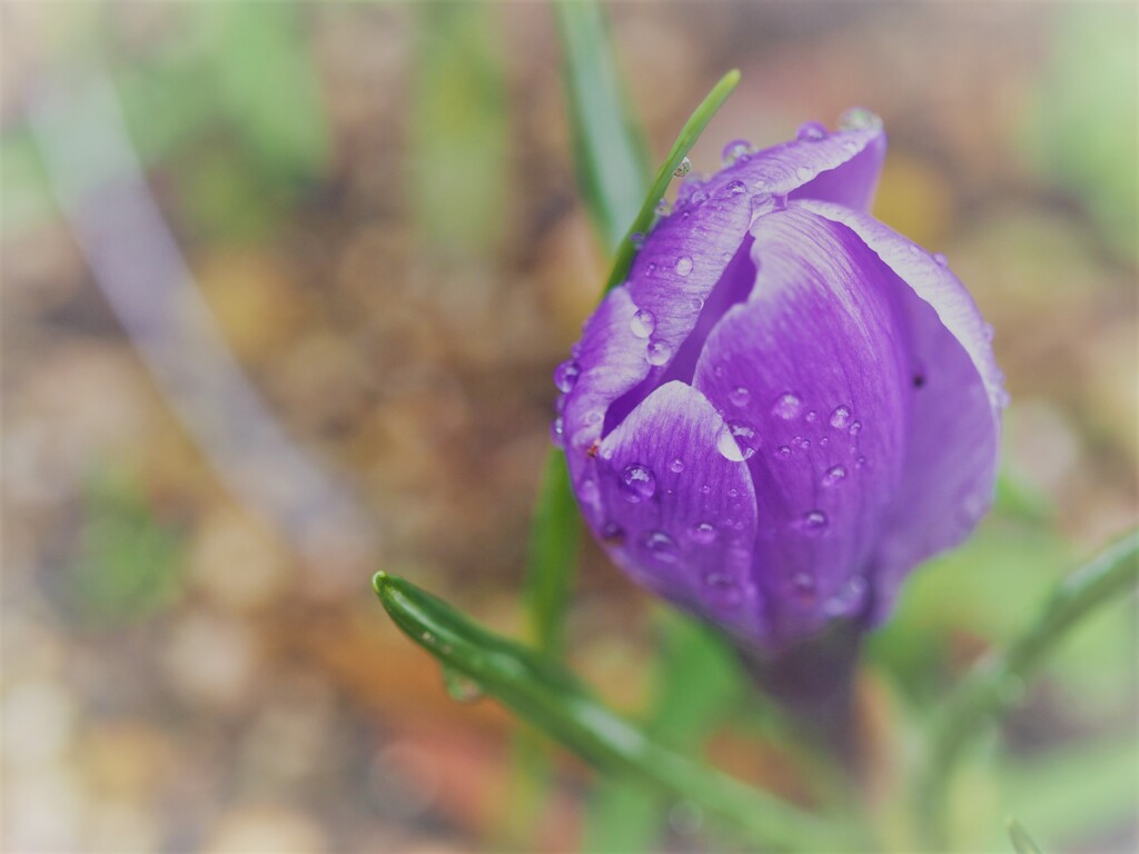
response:
[[[757,846],[828,852],[867,846],[852,828],[662,747],[598,703],[562,665],[486,631],[410,582],[377,573],[372,585],[412,641],[592,765],[691,802]]]

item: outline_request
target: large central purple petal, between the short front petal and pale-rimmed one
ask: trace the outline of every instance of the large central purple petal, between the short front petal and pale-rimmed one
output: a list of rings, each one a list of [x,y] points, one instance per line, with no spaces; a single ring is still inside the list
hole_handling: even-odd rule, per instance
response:
[[[749,457],[754,572],[785,642],[868,607],[911,368],[894,277],[849,229],[793,206],[753,233],[755,290],[712,331],[694,384]]]

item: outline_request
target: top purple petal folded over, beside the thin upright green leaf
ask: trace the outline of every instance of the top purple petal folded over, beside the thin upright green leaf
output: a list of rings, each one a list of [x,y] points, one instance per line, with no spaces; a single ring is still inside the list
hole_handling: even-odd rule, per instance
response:
[[[702,312],[720,317],[716,312],[722,306],[707,305],[710,297],[729,265],[746,265],[748,229],[755,217],[792,194],[865,207],[877,182],[885,143],[880,130],[795,140],[741,158],[682,194],[687,200],[657,223],[630,271],[629,294],[648,321],[638,331],[645,336],[650,368],[617,417],[667,379],[686,378],[683,370],[671,369],[672,363]],[[689,189],[694,186],[688,183]]]

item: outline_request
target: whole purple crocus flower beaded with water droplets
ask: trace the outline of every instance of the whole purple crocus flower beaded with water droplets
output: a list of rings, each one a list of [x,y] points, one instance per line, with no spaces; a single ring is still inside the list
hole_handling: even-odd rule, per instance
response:
[[[555,377],[605,550],[760,659],[882,621],[993,493],[991,327],[942,256],[869,215],[885,149],[861,109],[729,146]]]

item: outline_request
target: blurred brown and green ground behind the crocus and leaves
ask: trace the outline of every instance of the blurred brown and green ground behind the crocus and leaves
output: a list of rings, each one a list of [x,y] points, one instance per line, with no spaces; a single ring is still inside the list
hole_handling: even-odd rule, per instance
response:
[[[696,171],[880,114],[876,214],[995,327],[998,508],[871,641],[888,778],[951,676],[1137,520],[1139,10],[608,10],[654,158],[732,66]],[[588,770],[559,758],[519,830],[515,724],[453,701],[368,583],[523,632],[550,376],[606,274],[549,7],[8,2],[0,25],[5,849],[580,846]],[[632,715],[659,626],[587,549],[570,662]],[[1016,810],[1052,848],[1132,848],[1136,649],[1133,602],[1064,644],[966,767],[962,832],[1008,849]],[[702,749],[794,796],[779,746],[728,726],[747,706]],[[670,815],[662,849],[715,847]]]

